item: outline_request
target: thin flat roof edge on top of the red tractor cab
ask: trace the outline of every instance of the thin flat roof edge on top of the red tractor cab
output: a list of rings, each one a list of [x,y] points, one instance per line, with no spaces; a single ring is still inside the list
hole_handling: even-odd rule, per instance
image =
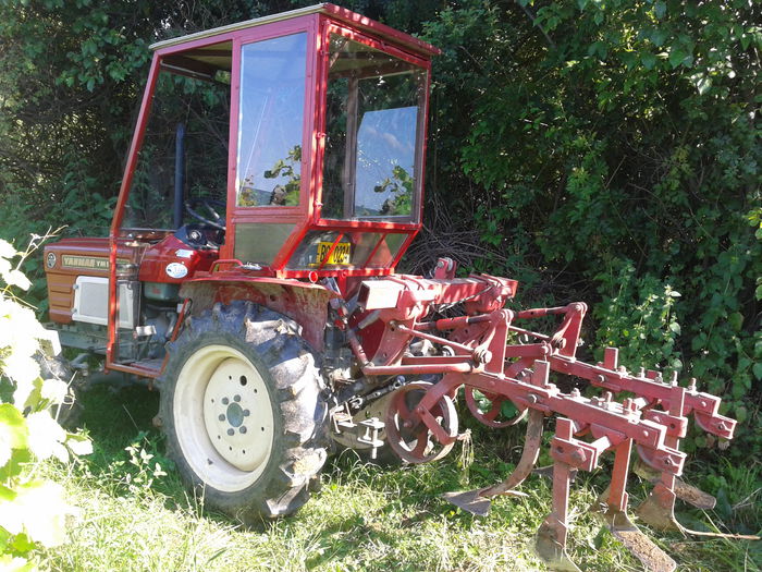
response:
[[[237,22],[235,24],[229,24],[226,26],[221,26],[217,28],[206,29],[204,32],[197,32],[195,34],[188,34],[185,36],[179,36],[176,38],[165,39],[163,41],[158,41],[150,46],[152,50],[159,50],[170,46],[177,46],[180,44],[185,44],[187,41],[209,38],[212,36],[225,34],[228,32],[235,32],[239,29],[246,29],[250,27],[261,26],[263,24],[270,24],[272,22],[282,22],[285,20],[292,20],[299,16],[306,16],[309,14],[325,14],[334,20],[349,24],[352,27],[357,29],[368,32],[374,36],[381,37],[383,39],[389,39],[396,45],[404,46],[405,48],[428,58],[442,53],[442,51],[427,44],[418,38],[410,36],[393,29],[380,22],[370,20],[361,14],[352,12],[345,8],[337,7],[331,3],[315,4],[307,8],[299,8],[297,10],[290,10],[288,12],[281,12],[279,14],[271,14],[269,16],[257,17],[254,20],[247,20],[245,22]]]

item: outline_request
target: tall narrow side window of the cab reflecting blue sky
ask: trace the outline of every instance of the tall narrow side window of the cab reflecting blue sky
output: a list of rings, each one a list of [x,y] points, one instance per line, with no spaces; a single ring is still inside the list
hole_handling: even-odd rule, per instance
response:
[[[238,206],[299,204],[306,58],[304,33],[242,48]]]

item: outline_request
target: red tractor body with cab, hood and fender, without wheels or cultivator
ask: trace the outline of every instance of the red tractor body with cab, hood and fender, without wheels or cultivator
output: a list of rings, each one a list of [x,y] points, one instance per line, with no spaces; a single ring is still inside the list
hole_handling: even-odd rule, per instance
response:
[[[393,273],[420,228],[439,50],[333,4],[151,49],[110,236],[46,247],[62,343],[156,378],[183,312],[248,296],[322,348],[327,296]]]

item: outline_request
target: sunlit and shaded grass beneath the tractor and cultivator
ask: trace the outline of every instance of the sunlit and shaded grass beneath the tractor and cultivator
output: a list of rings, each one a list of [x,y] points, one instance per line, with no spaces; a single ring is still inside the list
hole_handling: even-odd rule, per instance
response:
[[[88,572],[545,570],[532,544],[550,512],[550,483],[530,477],[523,486],[526,499],[500,498],[484,519],[439,497],[502,478],[517,460],[520,431],[475,428],[470,464],[458,448],[442,462],[397,468],[365,464],[346,451],[329,461],[321,490],[302,511],[247,530],[207,511],[202,498],[184,490],[162,455],[161,436],[151,427],[156,392],[100,386],[83,402],[94,454],[78,465],[47,467],[81,514],[71,524],[71,541],[40,555],[42,568]],[[157,462],[168,474],[157,471]],[[759,532],[759,461],[737,467],[712,460],[696,464],[688,475],[691,471],[703,475],[697,484],[720,491],[718,507],[709,513],[686,510],[679,514],[684,522]],[[603,468],[582,475],[574,487],[572,559],[583,570],[640,570],[638,561],[586,510],[595,490],[605,486],[606,474]],[[644,492],[647,488],[632,478],[634,503]],[[649,534],[681,570],[762,568],[762,543]]]

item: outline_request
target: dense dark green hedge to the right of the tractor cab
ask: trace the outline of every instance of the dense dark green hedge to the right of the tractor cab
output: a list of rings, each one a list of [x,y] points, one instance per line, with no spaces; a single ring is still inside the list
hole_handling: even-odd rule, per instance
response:
[[[507,260],[484,270],[527,283],[525,305],[589,302],[599,344],[697,377],[757,451],[761,19],[740,0],[472,0],[425,26],[444,49],[432,121],[446,137],[468,118],[466,145],[434,132],[469,179],[445,193]]]

